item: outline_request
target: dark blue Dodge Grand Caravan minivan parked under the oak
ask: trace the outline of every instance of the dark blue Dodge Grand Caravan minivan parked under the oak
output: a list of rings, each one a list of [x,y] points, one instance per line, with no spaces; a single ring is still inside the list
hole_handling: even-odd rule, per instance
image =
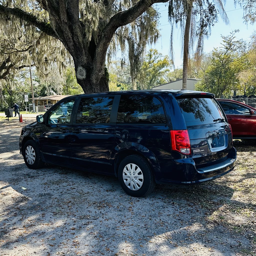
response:
[[[136,197],[155,183],[218,178],[236,161],[231,126],[214,94],[187,90],[64,98],[22,128],[19,147],[29,168],[52,163],[114,175]]]

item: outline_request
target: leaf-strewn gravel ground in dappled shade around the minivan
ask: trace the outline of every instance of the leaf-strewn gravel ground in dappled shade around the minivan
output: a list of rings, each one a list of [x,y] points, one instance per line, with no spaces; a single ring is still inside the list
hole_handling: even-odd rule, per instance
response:
[[[28,169],[18,138],[33,120],[0,119],[0,255],[256,255],[254,141],[234,141],[222,178],[133,198],[113,177]]]

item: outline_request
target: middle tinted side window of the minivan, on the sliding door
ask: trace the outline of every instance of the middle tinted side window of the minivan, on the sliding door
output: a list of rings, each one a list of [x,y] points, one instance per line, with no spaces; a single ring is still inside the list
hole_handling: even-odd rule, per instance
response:
[[[76,123],[109,123],[114,97],[82,98]]]

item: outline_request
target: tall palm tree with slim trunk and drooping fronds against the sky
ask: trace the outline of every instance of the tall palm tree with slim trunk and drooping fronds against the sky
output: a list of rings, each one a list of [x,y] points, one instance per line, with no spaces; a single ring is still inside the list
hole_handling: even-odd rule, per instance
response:
[[[199,65],[204,49],[204,38],[208,38],[211,26],[218,20],[218,12],[225,24],[229,24],[228,16],[224,10],[221,0],[170,0],[169,2],[169,21],[171,22],[170,51],[173,60],[173,29],[179,23],[182,30],[183,41],[183,83],[182,89],[187,88],[188,59],[189,51],[194,46],[197,39],[195,59]]]

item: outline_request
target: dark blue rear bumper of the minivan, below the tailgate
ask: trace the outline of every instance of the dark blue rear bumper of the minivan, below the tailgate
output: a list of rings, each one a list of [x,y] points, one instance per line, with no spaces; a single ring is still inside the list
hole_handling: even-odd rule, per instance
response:
[[[156,183],[169,184],[195,184],[205,182],[208,180],[219,178],[229,172],[235,167],[236,150],[232,149],[229,158],[223,159],[222,162],[217,164],[213,163],[203,168],[196,168],[195,162],[192,158],[178,159],[174,162],[169,162],[166,168],[161,169]]]

